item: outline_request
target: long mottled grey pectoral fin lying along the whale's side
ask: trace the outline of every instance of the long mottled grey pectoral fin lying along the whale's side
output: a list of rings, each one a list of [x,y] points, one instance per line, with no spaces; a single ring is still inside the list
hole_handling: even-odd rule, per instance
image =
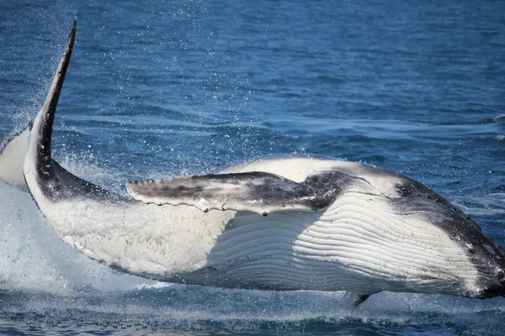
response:
[[[209,210],[317,212],[326,209],[340,188],[331,172],[297,183],[266,172],[196,175],[128,183],[128,192],[144,203],[190,205]]]

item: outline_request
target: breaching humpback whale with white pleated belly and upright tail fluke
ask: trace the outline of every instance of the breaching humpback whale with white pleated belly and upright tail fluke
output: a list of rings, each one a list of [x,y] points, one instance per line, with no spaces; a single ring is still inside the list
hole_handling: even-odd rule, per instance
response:
[[[75,22],[24,161],[42,214],[72,247],[124,272],[223,288],[505,294],[503,252],[461,210],[390,170],[284,155],[110,192],[52,159]],[[263,215],[263,216],[262,216]],[[268,215],[268,216],[267,216]]]

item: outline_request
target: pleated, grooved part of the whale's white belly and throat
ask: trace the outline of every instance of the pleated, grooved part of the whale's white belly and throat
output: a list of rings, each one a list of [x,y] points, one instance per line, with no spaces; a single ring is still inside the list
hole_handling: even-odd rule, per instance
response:
[[[261,221],[256,214],[233,219],[234,227],[208,256],[210,285],[355,293],[440,293],[461,279],[468,288],[474,286],[475,269],[445,233],[419,223],[419,234],[413,236],[405,223],[362,206],[359,197],[349,196],[321,217],[298,213]]]

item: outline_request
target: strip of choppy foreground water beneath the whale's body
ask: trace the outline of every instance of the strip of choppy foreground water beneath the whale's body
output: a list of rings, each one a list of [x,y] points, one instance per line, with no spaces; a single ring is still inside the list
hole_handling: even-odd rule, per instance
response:
[[[17,291],[2,294],[10,306],[0,311],[0,320],[15,330],[47,334],[69,329],[123,329],[134,334],[142,330],[223,330],[262,335],[279,331],[318,334],[338,329],[354,334],[357,327],[389,334],[391,329],[423,325],[423,330],[432,333],[457,329],[464,334],[501,335],[504,317],[500,299],[422,294],[381,293],[357,309],[342,305],[341,292],[227,291],[187,286],[71,297]],[[7,327],[6,323],[2,327]]]

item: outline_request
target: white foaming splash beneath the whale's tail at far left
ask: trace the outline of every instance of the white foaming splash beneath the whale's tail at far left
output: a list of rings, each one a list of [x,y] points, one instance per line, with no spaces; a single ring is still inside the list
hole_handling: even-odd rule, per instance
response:
[[[31,195],[0,183],[0,288],[69,295],[82,289],[126,290],[151,284],[117,275],[60,240]]]

